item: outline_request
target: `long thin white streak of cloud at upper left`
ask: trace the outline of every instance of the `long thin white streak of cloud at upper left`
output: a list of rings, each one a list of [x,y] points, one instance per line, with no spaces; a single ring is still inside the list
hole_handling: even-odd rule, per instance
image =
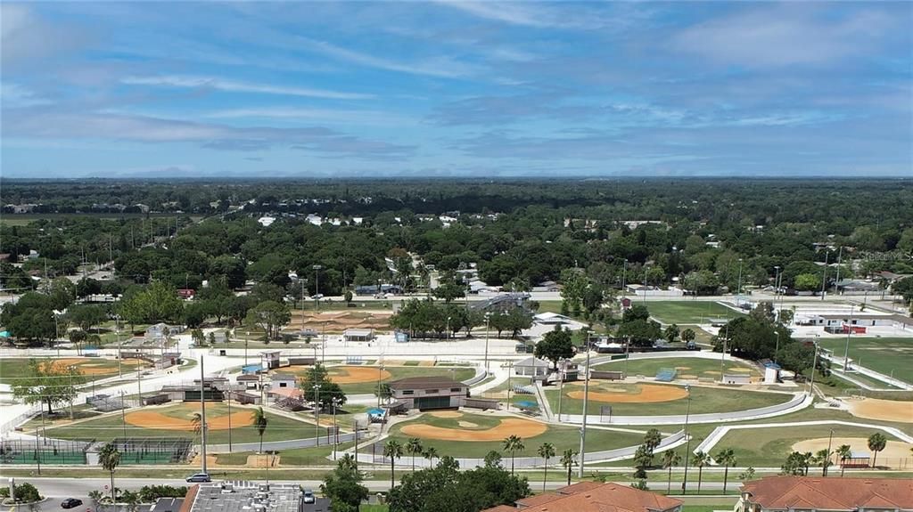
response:
[[[212,88],[227,92],[248,92],[278,96],[320,97],[324,99],[368,99],[373,95],[315,89],[309,87],[281,87],[229,80],[219,77],[189,77],[183,75],[158,75],[152,77],[126,77],[122,84],[129,86]]]

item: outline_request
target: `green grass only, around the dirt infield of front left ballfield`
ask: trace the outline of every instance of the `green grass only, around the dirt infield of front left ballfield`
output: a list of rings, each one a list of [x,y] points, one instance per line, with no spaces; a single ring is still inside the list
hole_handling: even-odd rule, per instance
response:
[[[144,407],[143,412],[156,411],[164,416],[170,416],[180,420],[189,419],[193,414],[184,404],[169,405],[165,407]],[[237,415],[241,411],[253,411],[249,407],[232,406],[232,415]],[[128,411],[128,415],[131,413]],[[206,419],[213,422],[219,416],[228,414],[226,404],[206,404]],[[268,427],[263,435],[264,441],[281,441],[285,439],[299,439],[314,436],[313,425],[299,422],[285,416],[273,415],[267,413]],[[322,422],[321,422],[322,423]],[[98,439],[107,441],[115,437],[123,437],[124,433],[131,437],[194,437],[194,432],[190,430],[166,430],[161,428],[143,428],[131,425],[128,421],[126,429],[124,428],[121,414],[114,413],[105,417],[91,419],[76,425],[58,426],[48,428],[47,435],[60,439]],[[232,443],[256,443],[259,441],[257,429],[253,425],[232,427]],[[228,430],[209,430],[206,441],[214,445],[228,443]]]

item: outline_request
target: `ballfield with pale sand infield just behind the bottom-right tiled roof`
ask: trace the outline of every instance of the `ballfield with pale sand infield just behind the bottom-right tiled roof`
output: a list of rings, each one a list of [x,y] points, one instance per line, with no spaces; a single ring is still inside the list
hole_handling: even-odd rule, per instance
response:
[[[826,448],[827,438],[832,429],[834,430],[834,439],[838,440],[841,437],[867,439],[869,435],[876,432],[870,429],[844,425],[784,426],[782,428],[770,427],[731,430],[727,435],[724,435],[719,444],[713,448],[713,453],[717,453],[723,448],[732,448],[735,452],[738,466],[753,465],[776,467],[782,465],[783,461],[786,460],[786,457],[789,456],[790,452],[793,450],[809,447],[810,440],[814,440],[812,444],[817,446],[821,444],[820,440],[824,439],[824,448]],[[879,430],[877,432],[881,431]],[[894,439],[890,435],[887,435],[887,438],[888,441],[897,442],[897,439]],[[837,445],[839,444],[834,443],[832,449],[836,448]],[[850,447],[857,452],[868,452],[868,447],[864,441],[850,443]],[[909,454],[909,451],[907,453]],[[913,466],[913,461],[911,461],[909,457],[910,456],[908,455],[907,464],[908,466]],[[878,456],[878,458],[880,460],[882,459],[882,456]],[[899,461],[895,458],[894,462],[897,463]],[[837,470],[839,471],[839,468],[837,468]],[[833,473],[833,467],[831,471]],[[818,474],[820,475],[820,470],[818,471]]]

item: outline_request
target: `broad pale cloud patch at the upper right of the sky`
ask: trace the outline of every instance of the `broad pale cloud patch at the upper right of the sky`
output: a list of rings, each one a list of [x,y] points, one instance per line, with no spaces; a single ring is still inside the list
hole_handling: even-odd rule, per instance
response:
[[[679,51],[737,66],[823,64],[865,52],[893,23],[875,11],[842,20],[815,14],[803,5],[753,10],[691,26],[672,43]]]

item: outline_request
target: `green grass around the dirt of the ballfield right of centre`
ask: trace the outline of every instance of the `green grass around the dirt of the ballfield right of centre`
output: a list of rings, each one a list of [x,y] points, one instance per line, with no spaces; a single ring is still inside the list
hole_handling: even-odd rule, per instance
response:
[[[605,382],[600,384],[599,381],[590,383],[590,393],[598,393],[601,390],[622,390],[630,393],[636,393],[638,386],[641,384],[616,384]],[[594,385],[596,384],[596,385]],[[673,384],[654,384],[648,385],[669,386]],[[602,387],[601,387],[602,386]],[[682,389],[681,386],[675,386]],[[582,385],[565,385],[564,396],[561,397],[561,414],[580,415],[583,411],[583,400],[571,398],[567,394],[572,391],[582,391]],[[701,413],[719,413],[728,411],[742,411],[745,409],[755,409],[766,407],[768,405],[782,404],[788,402],[792,395],[764,393],[760,391],[747,391],[739,389],[723,389],[715,387],[691,386],[691,414],[698,415]],[[545,392],[545,397],[551,405],[551,411],[558,414],[558,389],[552,388]],[[687,399],[681,398],[668,402],[657,402],[652,404],[637,403],[610,403],[600,402],[593,399],[590,395],[587,412],[591,415],[599,415],[600,408],[603,405],[612,405],[613,415],[684,415],[687,409]]]

